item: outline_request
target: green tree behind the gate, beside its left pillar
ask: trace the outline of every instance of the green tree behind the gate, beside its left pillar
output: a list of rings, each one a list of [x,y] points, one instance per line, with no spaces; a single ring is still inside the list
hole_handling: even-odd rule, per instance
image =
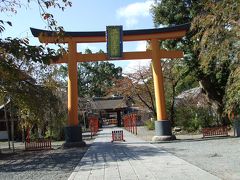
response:
[[[85,53],[91,54],[92,51],[86,49]],[[103,51],[100,50],[98,53],[103,53]],[[61,66],[61,71],[67,77],[67,66]],[[78,63],[78,96],[106,96],[113,86],[114,79],[121,77],[122,68],[115,67],[107,61]]]

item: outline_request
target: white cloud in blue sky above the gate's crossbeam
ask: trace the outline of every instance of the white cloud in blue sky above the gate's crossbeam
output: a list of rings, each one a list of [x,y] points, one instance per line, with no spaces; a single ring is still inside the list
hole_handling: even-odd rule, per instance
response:
[[[117,17],[124,18],[127,27],[132,27],[139,22],[139,18],[150,16],[150,7],[153,0],[129,4],[117,10]]]

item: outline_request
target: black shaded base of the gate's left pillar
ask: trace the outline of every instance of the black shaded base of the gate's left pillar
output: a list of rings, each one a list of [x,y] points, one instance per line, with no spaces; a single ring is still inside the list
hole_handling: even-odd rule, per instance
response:
[[[82,140],[81,126],[64,127],[65,143],[63,147],[84,147],[86,143]]]

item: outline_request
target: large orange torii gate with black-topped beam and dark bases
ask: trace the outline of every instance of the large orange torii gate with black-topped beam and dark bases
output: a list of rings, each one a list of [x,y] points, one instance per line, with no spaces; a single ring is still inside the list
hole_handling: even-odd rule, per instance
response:
[[[166,28],[124,30],[123,41],[149,41],[151,50],[141,52],[123,52],[121,60],[152,59],[152,70],[155,90],[157,121],[155,122],[156,136],[153,140],[172,139],[171,124],[167,119],[161,58],[182,58],[182,51],[167,51],[159,48],[159,41],[178,39],[185,36],[189,24],[182,24]],[[38,37],[41,43],[67,43],[68,54],[55,63],[68,64],[68,125],[67,136],[69,142],[82,141],[77,135],[78,127],[78,87],[77,62],[106,61],[108,54],[82,54],[77,52],[78,43],[106,42],[105,31],[94,32],[64,32],[63,37],[57,37],[54,31],[31,28],[32,34]],[[119,60],[119,59],[117,59]],[[80,132],[80,131],[79,131]],[[66,133],[66,131],[65,131]],[[77,136],[80,136],[79,138]]]

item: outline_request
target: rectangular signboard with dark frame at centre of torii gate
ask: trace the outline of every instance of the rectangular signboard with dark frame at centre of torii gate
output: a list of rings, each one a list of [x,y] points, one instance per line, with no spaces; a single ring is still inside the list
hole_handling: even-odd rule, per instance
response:
[[[109,59],[121,59],[123,54],[122,26],[107,26],[107,54]]]

